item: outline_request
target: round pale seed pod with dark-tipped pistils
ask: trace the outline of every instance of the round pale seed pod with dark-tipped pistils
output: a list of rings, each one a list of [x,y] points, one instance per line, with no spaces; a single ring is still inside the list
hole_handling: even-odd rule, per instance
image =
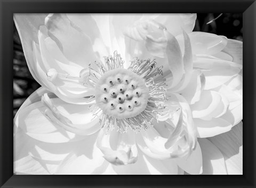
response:
[[[139,115],[148,103],[148,88],[140,76],[118,68],[106,72],[95,84],[95,100],[102,111],[118,119]]]

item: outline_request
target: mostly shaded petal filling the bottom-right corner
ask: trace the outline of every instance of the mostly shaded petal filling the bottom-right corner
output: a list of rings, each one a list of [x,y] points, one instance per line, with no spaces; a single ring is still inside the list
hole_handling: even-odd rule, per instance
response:
[[[243,123],[231,131],[208,138],[224,156],[227,172],[230,175],[243,174]]]

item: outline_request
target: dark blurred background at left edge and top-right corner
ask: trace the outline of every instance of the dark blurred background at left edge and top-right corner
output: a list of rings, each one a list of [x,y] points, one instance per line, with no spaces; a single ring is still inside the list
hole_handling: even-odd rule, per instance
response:
[[[13,117],[40,85],[31,76],[13,23]],[[243,41],[243,14],[197,14],[194,31],[210,32]]]

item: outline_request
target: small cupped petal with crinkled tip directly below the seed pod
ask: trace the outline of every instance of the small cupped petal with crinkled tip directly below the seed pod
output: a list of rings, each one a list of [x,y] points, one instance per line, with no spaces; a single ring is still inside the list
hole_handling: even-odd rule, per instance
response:
[[[113,142],[114,140],[114,142]],[[114,165],[129,165],[136,163],[138,150],[135,145],[135,135],[129,130],[125,133],[100,130],[97,146],[109,163]]]

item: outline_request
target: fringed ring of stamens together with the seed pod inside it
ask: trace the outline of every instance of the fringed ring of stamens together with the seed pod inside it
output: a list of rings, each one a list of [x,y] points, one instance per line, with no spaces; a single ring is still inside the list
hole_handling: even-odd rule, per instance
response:
[[[153,126],[156,113],[165,108],[158,102],[166,100],[165,80],[155,61],[135,58],[128,69],[123,63],[115,52],[105,57],[105,65],[97,64],[99,71],[92,70],[101,76],[91,75],[98,81],[94,87],[96,104],[90,108],[95,117],[100,116],[101,127],[120,132],[130,127],[138,133]]]

